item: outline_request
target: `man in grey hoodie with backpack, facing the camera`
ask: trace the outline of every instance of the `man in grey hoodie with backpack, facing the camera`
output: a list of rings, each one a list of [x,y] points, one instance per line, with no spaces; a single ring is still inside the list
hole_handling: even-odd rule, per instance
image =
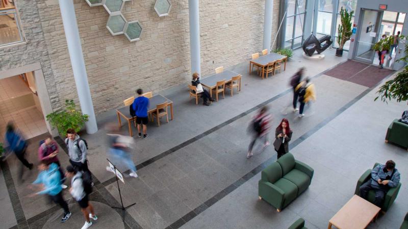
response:
[[[91,173],[86,158],[88,153],[87,142],[82,139],[74,129],[68,129],[65,144],[68,148],[69,163],[71,163],[73,167],[78,167],[78,170]]]

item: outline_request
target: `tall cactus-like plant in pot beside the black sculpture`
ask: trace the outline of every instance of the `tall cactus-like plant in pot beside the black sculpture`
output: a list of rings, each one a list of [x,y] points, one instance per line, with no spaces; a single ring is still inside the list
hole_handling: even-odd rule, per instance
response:
[[[343,55],[343,46],[351,38],[351,35],[352,35],[351,19],[352,19],[353,13],[354,11],[348,12],[347,9],[344,10],[343,7],[340,10],[341,23],[339,24],[338,36],[337,36],[337,43],[339,44],[339,47],[336,49],[337,56]]]

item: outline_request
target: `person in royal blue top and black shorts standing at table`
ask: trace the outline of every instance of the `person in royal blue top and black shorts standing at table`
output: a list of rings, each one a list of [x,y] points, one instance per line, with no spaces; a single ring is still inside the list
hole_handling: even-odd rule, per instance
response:
[[[137,124],[137,130],[139,131],[139,137],[142,137],[142,133],[140,132],[140,126],[143,124],[143,138],[146,138],[149,136],[146,131],[147,131],[147,123],[149,122],[149,119],[147,117],[147,108],[149,107],[149,99],[144,97],[143,91],[141,89],[138,89],[137,94],[139,97],[133,101],[133,110],[136,113],[136,124]]]

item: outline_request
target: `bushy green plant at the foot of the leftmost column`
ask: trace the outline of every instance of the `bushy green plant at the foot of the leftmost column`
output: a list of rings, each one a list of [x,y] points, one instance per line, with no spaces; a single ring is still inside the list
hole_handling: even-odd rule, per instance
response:
[[[65,136],[69,128],[77,132],[80,131],[85,122],[88,121],[88,115],[82,115],[82,112],[77,110],[73,100],[65,100],[65,109],[47,115],[47,121],[54,128],[57,128],[61,136]]]

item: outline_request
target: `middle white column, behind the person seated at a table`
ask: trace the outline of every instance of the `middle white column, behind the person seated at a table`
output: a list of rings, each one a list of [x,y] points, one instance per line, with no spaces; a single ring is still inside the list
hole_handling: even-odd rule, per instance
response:
[[[61,0],[60,0],[61,1]],[[190,24],[190,62],[191,73],[201,74],[200,67],[200,20],[198,0],[188,0],[188,18]]]

